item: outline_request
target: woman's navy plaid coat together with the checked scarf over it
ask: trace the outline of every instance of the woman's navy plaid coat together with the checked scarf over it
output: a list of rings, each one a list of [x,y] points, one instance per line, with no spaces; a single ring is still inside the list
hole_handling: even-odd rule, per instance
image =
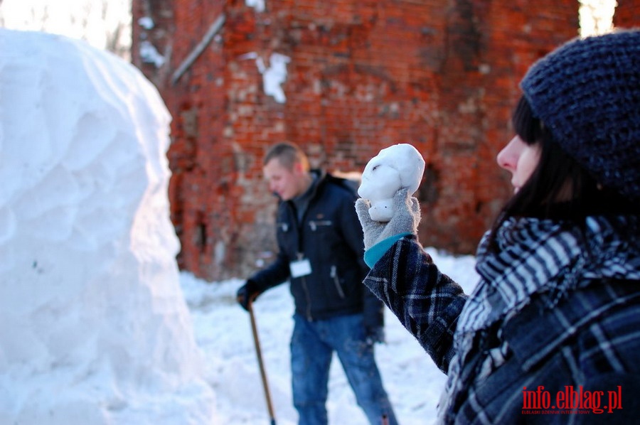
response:
[[[470,297],[414,235],[375,262],[364,283],[449,377],[439,421],[636,419],[640,220],[621,220],[507,223],[498,254],[481,242]]]

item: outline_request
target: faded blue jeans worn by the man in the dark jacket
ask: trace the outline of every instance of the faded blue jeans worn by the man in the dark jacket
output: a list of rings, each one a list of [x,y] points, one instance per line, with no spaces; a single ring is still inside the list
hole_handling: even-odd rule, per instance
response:
[[[398,424],[375,365],[373,345],[365,340],[363,315],[309,322],[296,314],[291,338],[291,367],[299,425],[328,423],[325,404],[334,350],[369,422],[379,425],[386,415],[389,425]]]

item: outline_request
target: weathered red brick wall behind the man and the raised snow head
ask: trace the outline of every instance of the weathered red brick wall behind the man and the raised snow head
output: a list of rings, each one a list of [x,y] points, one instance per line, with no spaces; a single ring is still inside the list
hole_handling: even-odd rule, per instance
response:
[[[427,172],[420,239],[474,252],[511,189],[495,156],[530,63],[577,35],[575,0],[134,0],[134,64],[171,113],[171,218],[178,262],[206,279],[246,276],[274,250],[270,144],[314,166],[361,171],[380,149],[414,144]],[[225,23],[179,80],[218,16]],[[144,63],[142,40],[166,58]],[[285,55],[285,102],[265,94],[255,58]]]

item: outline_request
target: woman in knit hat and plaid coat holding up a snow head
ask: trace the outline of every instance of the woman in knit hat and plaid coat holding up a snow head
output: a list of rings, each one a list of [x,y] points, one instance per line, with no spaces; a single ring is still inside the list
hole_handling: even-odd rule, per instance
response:
[[[442,423],[634,421],[640,414],[640,31],[570,41],[521,82],[498,154],[514,195],[466,296],[417,240],[407,190],[368,201],[364,283],[448,375]]]

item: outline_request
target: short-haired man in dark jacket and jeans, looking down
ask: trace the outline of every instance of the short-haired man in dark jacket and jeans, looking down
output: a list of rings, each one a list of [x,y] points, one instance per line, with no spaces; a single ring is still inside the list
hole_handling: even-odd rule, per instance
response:
[[[309,169],[298,146],[281,143],[265,155],[265,177],[279,198],[275,261],[238,289],[238,302],[289,281],[295,301],[291,363],[300,425],[327,424],[329,365],[334,351],[371,424],[397,424],[375,364],[383,342],[383,304],[363,286],[362,227],[348,181]]]

